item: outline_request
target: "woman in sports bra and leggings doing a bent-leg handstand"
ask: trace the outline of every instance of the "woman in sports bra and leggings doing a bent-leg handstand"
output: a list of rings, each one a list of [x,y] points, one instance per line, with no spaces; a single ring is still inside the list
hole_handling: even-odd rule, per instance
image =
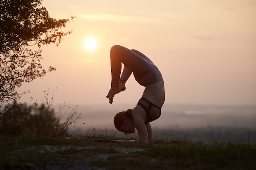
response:
[[[122,75],[121,63],[124,64]],[[135,129],[137,129],[140,142],[152,143],[152,129],[149,122],[159,118],[165,99],[161,72],[141,52],[119,45],[113,46],[110,50],[110,64],[112,81],[107,95],[110,104],[112,104],[115,94],[126,89],[125,83],[132,72],[136,81],[145,87],[135,108],[116,114],[114,118],[116,129],[125,134],[135,133]]]

